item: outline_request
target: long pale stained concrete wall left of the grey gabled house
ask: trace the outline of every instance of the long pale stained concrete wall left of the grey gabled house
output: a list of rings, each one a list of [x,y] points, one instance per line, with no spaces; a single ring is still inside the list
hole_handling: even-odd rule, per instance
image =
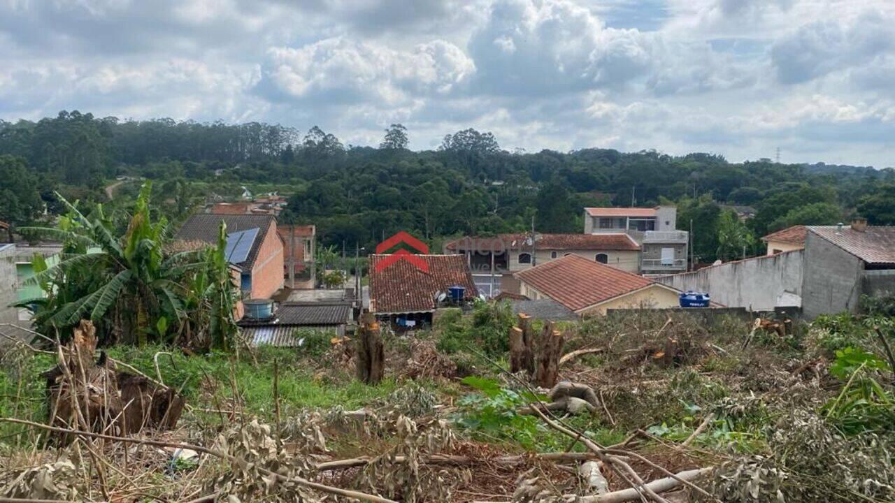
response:
[[[727,307],[772,311],[777,305],[793,303],[780,301],[781,297],[795,299],[802,296],[804,258],[802,251],[785,252],[658,277],[656,280],[685,292],[706,292],[711,295],[712,302]]]

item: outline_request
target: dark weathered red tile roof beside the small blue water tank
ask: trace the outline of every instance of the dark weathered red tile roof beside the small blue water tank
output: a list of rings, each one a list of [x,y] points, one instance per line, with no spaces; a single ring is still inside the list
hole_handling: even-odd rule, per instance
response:
[[[370,256],[370,311],[379,313],[428,312],[435,310],[435,295],[447,294],[450,286],[465,286],[465,298],[478,296],[473,276],[463,255],[417,255],[429,265],[417,269],[407,260],[397,260],[377,270],[388,255]]]

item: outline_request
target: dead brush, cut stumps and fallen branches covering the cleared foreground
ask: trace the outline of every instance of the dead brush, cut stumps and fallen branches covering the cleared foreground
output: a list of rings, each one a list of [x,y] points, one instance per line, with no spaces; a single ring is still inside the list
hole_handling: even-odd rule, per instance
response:
[[[337,372],[371,383],[401,379],[388,396],[354,409],[281,404],[283,389],[243,388],[236,371],[224,381],[195,376],[184,405],[177,390],[155,382],[161,372],[123,377],[75,341],[55,354],[51,374],[49,410],[63,413],[46,422],[0,420],[27,427],[30,439],[5,447],[0,498],[895,499],[891,430],[846,435],[823,408],[863,378],[852,370],[843,386],[831,377],[835,358],[815,341],[823,334],[753,327],[745,320],[706,326],[684,315],[561,327],[523,317],[501,326],[506,354],[472,344],[445,354],[438,327],[377,344],[381,336],[367,323],[320,358],[274,364],[280,375],[312,366],[321,382]],[[89,338],[85,332],[81,344]],[[875,361],[857,366],[891,375]],[[115,387],[118,401],[99,398]],[[223,401],[222,390],[229,390]],[[259,392],[268,396],[267,412],[246,405]],[[135,404],[140,413],[128,413]]]

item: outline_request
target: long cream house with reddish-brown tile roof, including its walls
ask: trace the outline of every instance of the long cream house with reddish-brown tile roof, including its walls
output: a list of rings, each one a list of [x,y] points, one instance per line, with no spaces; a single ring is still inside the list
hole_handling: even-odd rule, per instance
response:
[[[497,234],[467,236],[448,242],[445,253],[466,256],[479,292],[494,297],[519,293],[513,273],[567,255],[577,255],[616,269],[637,272],[640,245],[627,234]],[[491,268],[494,274],[491,274]]]

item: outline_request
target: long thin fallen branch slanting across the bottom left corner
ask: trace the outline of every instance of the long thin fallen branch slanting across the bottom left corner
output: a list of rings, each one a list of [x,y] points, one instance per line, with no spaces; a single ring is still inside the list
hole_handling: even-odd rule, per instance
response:
[[[209,456],[215,456],[221,459],[224,459],[230,463],[236,463],[239,465],[249,465],[249,462],[241,457],[231,456],[226,452],[221,452],[211,448],[205,448],[202,446],[196,446],[191,444],[184,444],[183,442],[164,442],[161,440],[152,440],[152,439],[132,439],[128,437],[116,437],[114,435],[106,435],[104,433],[93,433],[92,431],[80,431],[80,430],[72,430],[70,428],[59,428],[56,426],[50,426],[48,424],[41,424],[39,422],[25,421],[23,419],[14,419],[10,417],[0,418],[0,422],[13,422],[15,424],[24,424],[27,426],[31,426],[34,428],[42,428],[47,431],[55,431],[56,433],[64,433],[68,435],[77,435],[79,437],[87,437],[90,439],[106,439],[113,440],[117,442],[129,442],[133,444],[142,444],[147,446],[154,446],[157,448],[182,448],[182,449],[192,449],[196,452],[200,452],[203,454],[208,454]],[[298,485],[304,486],[308,489],[319,490],[320,492],[326,492],[328,494],[336,494],[338,496],[342,496],[345,498],[351,499],[360,499],[361,501],[372,501],[373,503],[397,503],[393,499],[381,498],[379,496],[375,496],[372,494],[367,494],[365,492],[359,492],[356,490],[346,490],[333,486],[328,486],[326,484],[321,484],[320,482],[311,482],[302,477],[287,477],[286,475],[282,475],[280,473],[271,472],[266,468],[262,468],[258,465],[255,465],[255,468],[260,472],[268,475],[269,477],[274,477],[275,479],[282,479],[285,482],[294,482]],[[0,501],[2,503],[2,501]]]

